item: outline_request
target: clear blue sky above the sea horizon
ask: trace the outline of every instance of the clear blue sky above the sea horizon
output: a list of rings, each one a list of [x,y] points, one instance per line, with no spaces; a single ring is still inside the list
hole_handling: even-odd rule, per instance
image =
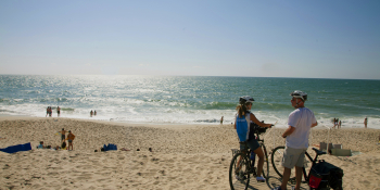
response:
[[[380,79],[380,1],[1,0],[0,74]]]

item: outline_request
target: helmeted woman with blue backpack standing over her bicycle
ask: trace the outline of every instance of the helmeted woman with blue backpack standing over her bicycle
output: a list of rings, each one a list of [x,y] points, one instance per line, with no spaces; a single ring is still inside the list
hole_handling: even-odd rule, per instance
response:
[[[251,97],[241,97],[239,99],[239,105],[236,107],[238,113],[236,114],[236,121],[235,121],[235,129],[237,129],[237,134],[239,137],[239,141],[244,142],[246,141],[246,145],[253,150],[254,153],[258,156],[258,163],[257,163],[257,177],[256,180],[264,182],[265,178],[262,176],[263,172],[263,165],[264,165],[264,153],[262,148],[259,147],[258,142],[256,139],[249,139],[249,129],[250,129],[250,124],[251,121],[256,123],[261,127],[268,127],[270,128],[273,125],[271,124],[264,124],[261,123],[256,116],[250,112],[252,107],[252,102],[253,98]],[[241,143],[240,144],[240,150],[244,150],[245,144]],[[238,165],[240,163],[242,157],[239,159]],[[239,169],[237,170],[238,173],[236,174],[237,179],[242,179],[241,176],[239,176]]]

